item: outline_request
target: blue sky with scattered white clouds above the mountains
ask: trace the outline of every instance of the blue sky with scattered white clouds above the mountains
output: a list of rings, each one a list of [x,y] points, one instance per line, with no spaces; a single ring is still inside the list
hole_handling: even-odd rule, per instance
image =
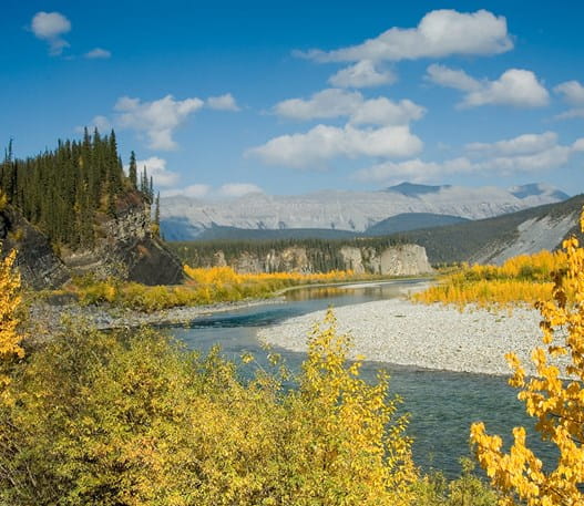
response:
[[[162,195],[584,192],[584,4],[2,0],[0,143],[115,130]]]

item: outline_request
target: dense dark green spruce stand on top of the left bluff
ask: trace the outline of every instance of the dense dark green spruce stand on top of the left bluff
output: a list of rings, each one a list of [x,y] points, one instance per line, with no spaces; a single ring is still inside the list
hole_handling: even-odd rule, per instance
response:
[[[0,190],[38,226],[55,246],[91,248],[99,224],[116,216],[124,197],[132,193],[146,205],[154,202],[152,178],[146,167],[140,174],[132,152],[129,176],[117,153],[112,130],[81,141],[59,141],[53,151],[16,159],[12,141],[0,164]]]

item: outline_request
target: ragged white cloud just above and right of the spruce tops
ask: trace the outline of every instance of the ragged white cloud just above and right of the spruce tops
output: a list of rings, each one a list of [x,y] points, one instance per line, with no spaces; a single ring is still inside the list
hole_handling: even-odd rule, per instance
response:
[[[121,97],[114,109],[120,112],[117,122],[124,128],[143,132],[153,149],[174,149],[173,132],[188,115],[203,107],[201,99],[174,100],[173,95],[153,102]]]

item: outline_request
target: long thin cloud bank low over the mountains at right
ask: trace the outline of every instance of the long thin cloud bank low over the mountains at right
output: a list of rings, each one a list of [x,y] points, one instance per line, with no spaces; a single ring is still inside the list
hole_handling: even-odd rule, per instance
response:
[[[444,162],[424,162],[419,158],[404,162],[385,162],[354,174],[359,180],[386,183],[408,178],[424,182],[451,174],[494,173],[508,176],[516,173],[541,173],[565,166],[580,152],[584,138],[570,145],[557,143],[554,132],[525,134],[495,143],[467,145],[472,158],[461,156]]]

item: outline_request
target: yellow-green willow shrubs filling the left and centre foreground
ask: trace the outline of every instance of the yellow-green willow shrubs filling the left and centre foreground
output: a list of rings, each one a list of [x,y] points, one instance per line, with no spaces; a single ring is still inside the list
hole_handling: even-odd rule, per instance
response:
[[[388,379],[347,362],[331,313],[296,390],[242,381],[142,330],[71,326],[13,374],[0,406],[0,504],[407,505],[418,472]],[[248,361],[248,360],[247,360]]]

